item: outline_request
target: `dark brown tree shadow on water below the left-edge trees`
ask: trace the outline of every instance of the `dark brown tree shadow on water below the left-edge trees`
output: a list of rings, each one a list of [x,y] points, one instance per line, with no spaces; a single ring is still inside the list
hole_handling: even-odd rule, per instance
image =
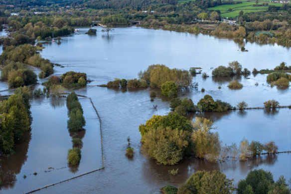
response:
[[[31,133],[24,133],[21,140],[15,143],[14,154],[9,157],[0,157],[0,180],[3,182],[4,188],[13,188],[16,175],[20,173],[22,165],[27,159],[27,151]]]

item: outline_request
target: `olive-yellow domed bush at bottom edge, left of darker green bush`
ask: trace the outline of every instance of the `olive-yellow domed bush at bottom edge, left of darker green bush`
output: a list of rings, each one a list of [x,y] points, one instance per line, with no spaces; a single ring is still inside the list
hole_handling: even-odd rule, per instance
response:
[[[217,170],[197,171],[179,186],[177,194],[232,194],[235,191],[233,181]]]

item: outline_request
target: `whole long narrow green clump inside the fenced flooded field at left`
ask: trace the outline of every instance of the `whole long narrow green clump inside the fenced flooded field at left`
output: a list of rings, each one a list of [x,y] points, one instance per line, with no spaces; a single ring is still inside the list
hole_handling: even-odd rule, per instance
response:
[[[75,92],[71,92],[66,98],[69,112],[68,128],[71,131],[81,131],[86,124],[83,109]]]

